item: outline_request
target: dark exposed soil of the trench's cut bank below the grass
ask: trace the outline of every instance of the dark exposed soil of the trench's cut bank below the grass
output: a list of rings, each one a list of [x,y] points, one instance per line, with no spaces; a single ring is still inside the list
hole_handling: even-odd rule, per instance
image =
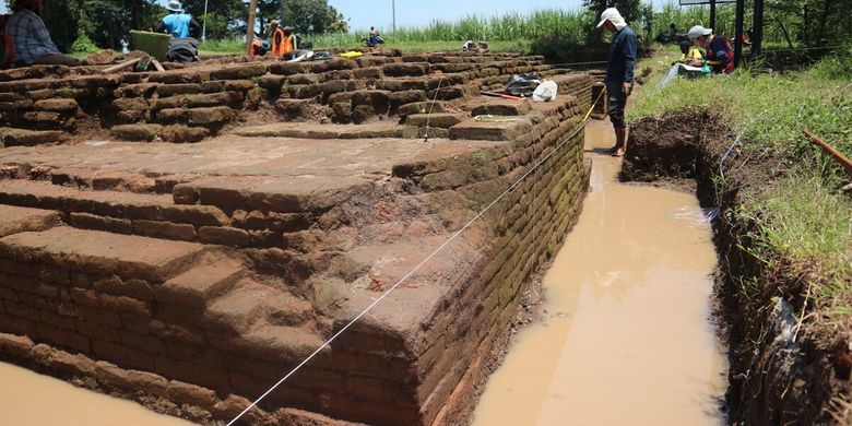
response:
[[[800,319],[807,276],[793,273],[783,259],[766,268],[746,251],[757,225],[732,211],[782,171],[776,167],[780,156],[732,149],[735,138],[721,117],[706,111],[640,120],[631,128],[620,178],[675,186],[695,179],[701,204],[719,208],[715,296],[720,333],[731,348],[730,423],[837,422],[837,399],[850,393],[848,343],[837,330]]]

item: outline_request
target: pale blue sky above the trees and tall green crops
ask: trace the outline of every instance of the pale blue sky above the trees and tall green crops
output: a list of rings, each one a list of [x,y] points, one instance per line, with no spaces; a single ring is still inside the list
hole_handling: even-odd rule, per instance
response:
[[[163,4],[168,2],[157,1]],[[553,8],[578,10],[581,7],[581,0],[329,0],[329,4],[350,20],[352,29],[376,26],[380,32],[388,32],[393,22],[394,1],[398,27],[422,26],[436,19],[453,20],[473,13],[492,16],[508,11],[529,12]],[[665,2],[653,0],[654,4]],[[1,0],[0,13],[5,13],[5,4]]]

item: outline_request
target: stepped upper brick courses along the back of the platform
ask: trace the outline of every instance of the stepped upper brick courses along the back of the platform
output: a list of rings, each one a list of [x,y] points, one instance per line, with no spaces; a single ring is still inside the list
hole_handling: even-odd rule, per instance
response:
[[[559,82],[560,88],[569,85],[563,82],[568,70],[552,69],[542,57],[384,55],[390,56],[315,62],[202,61],[165,72],[116,75],[103,75],[97,67],[2,71],[0,142],[34,145],[93,135],[198,142],[259,117],[365,123],[404,118],[427,107],[434,113],[452,110],[480,90],[501,88],[513,73],[536,72]]]

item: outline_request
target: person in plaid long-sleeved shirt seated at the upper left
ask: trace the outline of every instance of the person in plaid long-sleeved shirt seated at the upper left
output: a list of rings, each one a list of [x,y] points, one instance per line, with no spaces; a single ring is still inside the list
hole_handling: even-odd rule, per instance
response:
[[[15,63],[23,66],[79,66],[80,61],[59,52],[42,21],[42,0],[16,0],[14,14],[7,21],[5,32],[15,47]]]

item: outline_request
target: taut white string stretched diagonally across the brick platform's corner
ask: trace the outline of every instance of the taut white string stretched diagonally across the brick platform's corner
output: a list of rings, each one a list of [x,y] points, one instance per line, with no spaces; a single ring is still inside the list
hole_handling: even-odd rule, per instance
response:
[[[601,93],[603,93],[603,92],[601,92]],[[595,99],[595,102],[594,102],[594,103],[592,104],[592,106],[589,108],[589,113],[585,115],[585,117],[583,118],[583,120],[580,122],[580,126],[577,128],[577,130],[575,130],[575,131],[573,131],[573,133],[571,133],[571,135],[569,135],[568,138],[566,138],[566,139],[565,139],[565,141],[563,141],[561,143],[559,143],[559,144],[558,144],[558,145],[557,145],[555,149],[551,150],[551,152],[549,152],[547,155],[545,155],[545,156],[544,156],[544,158],[542,158],[541,161],[539,161],[539,163],[535,163],[535,164],[534,164],[534,165],[533,165],[533,166],[532,166],[532,167],[531,167],[531,168],[530,168],[530,169],[529,169],[529,170],[528,170],[525,174],[523,174],[523,176],[521,176],[521,177],[520,177],[520,178],[519,178],[519,179],[518,179],[518,180],[517,180],[514,184],[512,184],[512,185],[509,187],[509,189],[507,189],[506,191],[504,191],[504,193],[501,193],[501,194],[500,194],[499,197],[497,197],[497,198],[496,198],[494,201],[492,201],[492,202],[490,202],[490,204],[486,205],[486,206],[485,206],[485,209],[483,209],[483,210],[482,210],[480,213],[477,213],[477,214],[476,214],[476,215],[475,215],[475,216],[474,216],[472,220],[470,220],[470,222],[468,222],[466,224],[464,224],[464,226],[462,226],[462,227],[461,227],[461,229],[457,230],[457,232],[455,232],[455,233],[454,233],[454,234],[453,234],[453,235],[452,235],[452,236],[451,236],[451,237],[450,237],[450,238],[449,238],[449,239],[448,239],[446,242],[443,242],[443,244],[442,244],[440,247],[438,247],[438,248],[437,248],[435,251],[433,251],[433,252],[431,252],[431,255],[427,256],[427,257],[426,257],[426,259],[424,259],[424,260],[423,260],[422,262],[419,262],[419,263],[418,263],[416,267],[414,267],[414,269],[413,269],[413,270],[411,270],[411,271],[410,271],[409,273],[406,273],[406,274],[405,274],[405,275],[404,275],[402,279],[400,279],[400,281],[398,281],[398,282],[397,282],[397,284],[393,284],[393,286],[392,286],[392,287],[388,288],[388,289],[387,289],[387,291],[386,291],[386,292],[384,292],[384,293],[383,293],[381,296],[379,296],[379,298],[377,298],[376,300],[374,300],[374,301],[372,301],[372,303],[371,303],[369,306],[367,306],[367,308],[365,308],[365,309],[364,309],[364,310],[363,310],[360,313],[358,313],[358,315],[357,315],[355,318],[353,318],[353,319],[352,319],[352,320],[351,320],[348,323],[346,323],[346,326],[344,326],[342,329],[340,329],[340,331],[338,331],[336,333],[334,333],[334,335],[332,335],[332,336],[331,336],[329,340],[327,340],[327,341],[326,341],[326,343],[323,343],[323,344],[322,344],[320,347],[318,347],[316,351],[313,351],[313,353],[311,353],[310,355],[308,355],[308,357],[307,357],[307,358],[305,358],[305,359],[304,359],[301,363],[299,363],[299,365],[297,365],[296,367],[294,367],[294,368],[293,368],[293,369],[292,369],[289,372],[287,372],[287,375],[286,375],[286,376],[284,376],[283,378],[281,378],[281,380],[279,380],[279,381],[277,381],[275,384],[273,384],[273,386],[272,386],[272,387],[271,387],[271,388],[270,388],[268,391],[263,392],[263,394],[262,394],[262,395],[260,395],[260,397],[259,397],[257,400],[255,400],[255,402],[252,402],[252,403],[251,403],[251,405],[249,405],[249,406],[247,406],[245,410],[242,410],[242,412],[240,412],[240,413],[239,413],[239,414],[238,414],[236,417],[234,417],[234,419],[232,419],[230,422],[228,422],[227,426],[232,426],[232,425],[234,425],[234,423],[236,423],[236,422],[237,422],[237,421],[238,421],[240,417],[242,417],[242,416],[244,416],[246,413],[248,413],[248,411],[249,411],[249,410],[251,410],[251,409],[253,409],[255,406],[257,406],[257,405],[260,403],[260,401],[262,401],[264,398],[267,398],[267,395],[269,395],[270,393],[272,393],[272,391],[274,391],[274,390],[275,390],[275,389],[276,389],[279,386],[281,386],[281,383],[283,383],[284,381],[286,381],[286,380],[287,380],[287,379],[288,379],[291,376],[293,376],[293,375],[294,375],[296,371],[298,371],[298,370],[299,370],[299,369],[300,369],[300,368],[301,368],[301,367],[303,367],[305,364],[308,364],[308,362],[310,362],[311,359],[313,359],[313,357],[315,357],[315,356],[317,356],[317,354],[319,354],[319,353],[320,353],[320,352],[321,352],[323,348],[326,348],[326,346],[330,345],[330,344],[331,344],[331,342],[333,342],[333,341],[334,341],[335,339],[338,339],[338,338],[339,338],[341,334],[343,334],[343,332],[344,332],[344,331],[346,331],[346,330],[347,330],[350,327],[352,327],[352,324],[354,324],[354,323],[355,323],[356,321],[358,321],[358,320],[359,320],[362,317],[364,317],[365,315],[367,315],[367,312],[368,312],[370,309],[372,309],[372,307],[375,307],[376,305],[378,305],[378,304],[379,304],[379,301],[381,301],[382,299],[384,299],[386,297],[388,297],[388,295],[390,295],[390,294],[391,294],[391,293],[392,293],[394,289],[397,289],[397,287],[399,287],[399,286],[400,286],[400,284],[402,284],[402,283],[403,283],[405,280],[407,280],[407,279],[409,279],[411,275],[413,275],[415,272],[417,272],[417,271],[418,271],[418,270],[419,270],[419,269],[421,269],[421,268],[422,268],[424,264],[426,264],[426,262],[428,262],[429,260],[431,260],[431,259],[433,259],[433,258],[434,258],[436,255],[438,255],[438,253],[439,253],[441,250],[443,250],[443,248],[446,248],[447,246],[449,246],[449,245],[450,245],[450,242],[452,242],[452,241],[453,241],[453,240],[454,240],[454,239],[455,239],[455,238],[457,238],[459,235],[461,235],[463,232],[465,232],[465,230],[466,230],[469,227],[471,227],[471,225],[473,225],[473,223],[474,223],[474,222],[476,222],[476,221],[477,221],[480,217],[482,217],[482,216],[485,214],[485,212],[487,212],[488,210],[490,210],[490,208],[493,208],[495,204],[497,204],[497,202],[499,202],[499,201],[500,201],[500,200],[501,200],[504,197],[506,197],[507,194],[509,194],[509,192],[511,192],[511,191],[512,191],[514,188],[517,188],[517,187],[518,187],[518,186],[519,186],[519,185],[520,185],[520,184],[521,184],[521,182],[522,182],[524,179],[526,179],[526,178],[528,178],[528,177],[529,177],[529,176],[530,176],[530,175],[531,175],[533,171],[535,171],[535,169],[537,169],[537,168],[539,168],[539,167],[540,167],[542,164],[544,164],[544,162],[546,162],[547,159],[549,159],[549,158],[551,158],[551,157],[552,157],[554,154],[556,154],[556,153],[557,153],[557,152],[558,152],[558,151],[559,151],[559,150],[560,150],[563,146],[565,146],[565,145],[566,145],[568,142],[570,142],[570,141],[571,141],[571,139],[573,139],[573,137],[576,137],[576,135],[577,135],[577,133],[579,133],[579,132],[580,132],[580,130],[583,130],[583,129],[585,129],[585,122],[587,122],[587,121],[589,121],[589,116],[591,115],[591,113],[592,113],[592,109],[594,109],[594,106],[595,106],[595,104],[597,104],[597,100],[600,100],[600,99],[601,99],[601,95],[599,94],[599,95],[597,95],[597,99]]]

